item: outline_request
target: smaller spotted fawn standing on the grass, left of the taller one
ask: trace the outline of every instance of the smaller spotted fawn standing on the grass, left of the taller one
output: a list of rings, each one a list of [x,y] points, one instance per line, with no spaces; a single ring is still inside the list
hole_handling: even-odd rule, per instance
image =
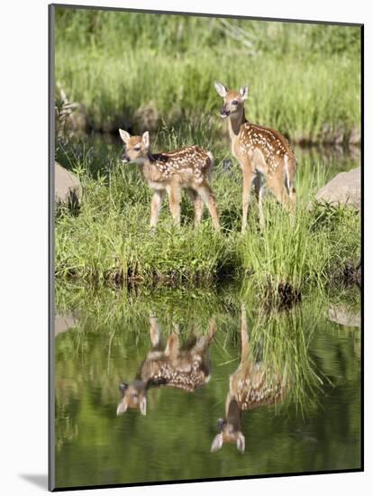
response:
[[[208,180],[214,166],[212,153],[197,146],[189,146],[175,152],[151,153],[148,132],[142,136],[131,136],[120,129],[119,133],[125,144],[122,161],[140,164],[142,176],[153,190],[151,227],[157,225],[165,192],[168,193],[169,209],[174,221],[177,225],[180,224],[181,189],[186,188],[195,207],[195,225],[201,222],[205,202],[214,228],[219,231],[215,197]]]

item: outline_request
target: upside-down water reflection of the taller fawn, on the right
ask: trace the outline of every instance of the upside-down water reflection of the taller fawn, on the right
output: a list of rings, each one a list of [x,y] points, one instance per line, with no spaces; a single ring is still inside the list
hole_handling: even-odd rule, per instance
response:
[[[235,443],[245,451],[245,436],[241,431],[243,410],[255,409],[282,400],[286,391],[286,373],[275,372],[267,363],[257,362],[250,351],[246,320],[246,308],[241,307],[241,363],[229,381],[225,401],[225,418],[219,418],[219,434],[214,437],[211,451],[217,451],[223,443]]]

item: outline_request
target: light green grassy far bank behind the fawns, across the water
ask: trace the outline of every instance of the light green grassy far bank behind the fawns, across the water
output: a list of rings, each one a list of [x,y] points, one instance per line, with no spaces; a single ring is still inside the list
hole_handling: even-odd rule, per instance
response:
[[[359,28],[57,9],[56,80],[88,129],[157,130],[213,115],[214,80],[293,142],[359,140]],[[57,92],[59,95],[59,91]]]

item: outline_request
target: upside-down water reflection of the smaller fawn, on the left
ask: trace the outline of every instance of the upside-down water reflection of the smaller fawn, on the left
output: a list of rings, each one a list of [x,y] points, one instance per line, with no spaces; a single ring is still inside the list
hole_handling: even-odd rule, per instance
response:
[[[123,398],[116,409],[121,415],[127,409],[140,409],[146,415],[147,391],[150,387],[171,386],[194,391],[210,379],[208,347],[215,333],[215,323],[211,319],[206,335],[193,335],[187,349],[180,349],[176,332],[169,335],[166,347],[160,343],[157,318],[150,316],[150,341],[152,350],[141,364],[135,380],[122,383],[119,389]]]

